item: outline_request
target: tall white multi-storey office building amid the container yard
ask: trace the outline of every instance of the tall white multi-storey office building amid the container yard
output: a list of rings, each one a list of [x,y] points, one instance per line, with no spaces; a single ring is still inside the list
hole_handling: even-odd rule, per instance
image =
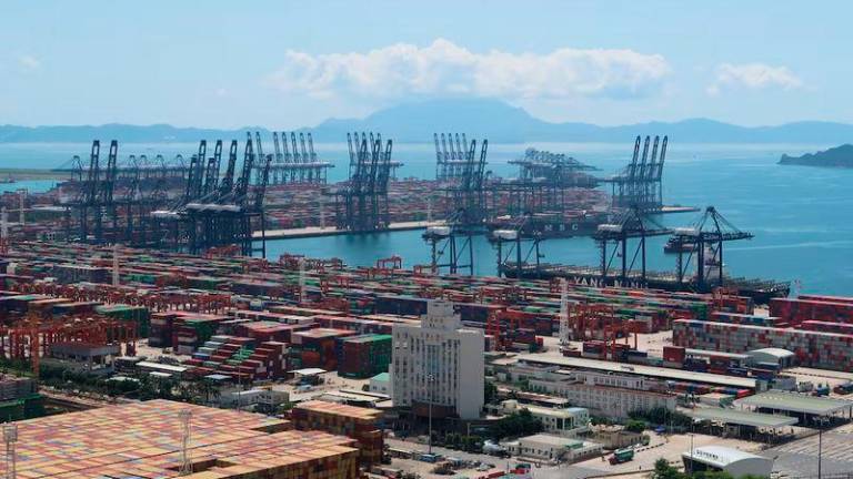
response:
[[[390,366],[394,406],[433,417],[480,417],[483,408],[484,339],[462,327],[453,304],[430,302],[421,324],[393,326]]]

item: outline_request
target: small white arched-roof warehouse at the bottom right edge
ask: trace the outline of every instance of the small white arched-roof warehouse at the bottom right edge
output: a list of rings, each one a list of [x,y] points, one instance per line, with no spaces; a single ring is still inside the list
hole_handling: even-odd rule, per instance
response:
[[[703,446],[681,455],[684,469],[693,472],[723,471],[732,477],[770,477],[773,459],[722,446]]]

